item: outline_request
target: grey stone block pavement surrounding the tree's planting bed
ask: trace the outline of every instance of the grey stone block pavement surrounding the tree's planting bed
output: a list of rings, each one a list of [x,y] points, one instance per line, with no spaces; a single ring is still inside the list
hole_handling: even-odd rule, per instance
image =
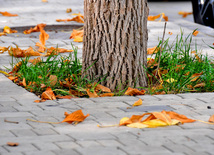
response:
[[[71,48],[69,40],[71,27],[75,23],[57,23],[57,18],[70,18],[65,13],[66,8],[72,8],[74,13],[83,12],[83,0],[57,1],[49,0],[0,0],[1,10],[19,14],[18,17],[0,16],[0,29],[5,25],[16,27],[20,33],[0,37],[0,46],[15,46],[27,48],[35,45],[39,33],[23,35],[26,27],[39,23],[47,23],[50,39],[48,46]],[[198,28],[197,37],[199,50],[213,56],[213,50],[205,44],[212,45],[214,31],[192,22],[192,16],[182,19],[178,11],[191,11],[190,2],[177,3],[149,3],[150,14],[165,12],[170,21],[167,24],[166,35],[173,39],[180,34],[185,35]],[[167,11],[166,11],[167,8]],[[182,9],[182,10],[180,10]],[[163,22],[148,22],[148,46],[157,45],[158,38],[163,33]],[[78,25],[77,25],[78,26]],[[69,29],[70,27],[70,29]],[[54,31],[53,31],[54,30]],[[64,30],[64,31],[62,31]],[[66,30],[66,31],[65,31]],[[203,42],[204,40],[204,42]],[[82,43],[74,43],[79,47],[81,58]],[[7,53],[0,55],[0,69],[10,68],[11,57]],[[131,110],[126,107],[132,105],[139,98],[143,105]],[[158,96],[121,96],[105,98],[79,98],[71,100],[46,101],[34,103],[39,99],[36,95],[22,87],[13,84],[0,74],[0,155],[212,155],[214,154],[214,125],[200,122],[171,126],[164,128],[133,129],[128,127],[98,128],[97,125],[118,124],[122,117],[142,114],[146,111],[173,110],[193,119],[207,121],[214,114],[214,93],[158,95]],[[82,109],[90,116],[76,126],[62,124],[44,124],[26,121],[36,119],[40,121],[58,122],[64,119],[64,112]],[[18,124],[4,122],[17,121]],[[9,147],[7,142],[20,143],[17,147]]]

